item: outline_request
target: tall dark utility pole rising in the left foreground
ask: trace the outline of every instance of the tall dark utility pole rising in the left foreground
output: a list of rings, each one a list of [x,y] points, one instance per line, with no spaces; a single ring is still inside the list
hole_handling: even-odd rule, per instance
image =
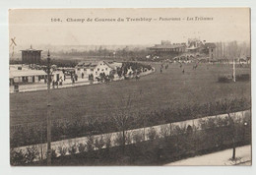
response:
[[[47,165],[51,165],[51,117],[50,117],[50,52],[47,54]]]

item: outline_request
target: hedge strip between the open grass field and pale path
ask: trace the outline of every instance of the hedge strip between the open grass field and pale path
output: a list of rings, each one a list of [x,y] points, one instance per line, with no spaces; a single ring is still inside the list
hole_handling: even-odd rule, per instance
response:
[[[246,98],[234,98],[206,104],[185,105],[179,108],[169,107],[148,114],[140,113],[139,116],[132,115],[129,118],[127,130],[222,114],[229,112],[226,111],[227,108],[232,112],[246,110],[250,108],[250,101]],[[11,128],[11,147],[46,143],[46,124],[41,123],[40,125],[40,127],[36,125]],[[120,131],[120,128],[111,120],[111,116],[52,121],[52,141],[117,131]]]

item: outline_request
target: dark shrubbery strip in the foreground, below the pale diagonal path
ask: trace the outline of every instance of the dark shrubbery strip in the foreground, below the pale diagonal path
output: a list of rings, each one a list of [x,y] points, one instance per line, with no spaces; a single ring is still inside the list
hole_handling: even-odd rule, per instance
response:
[[[71,165],[74,162],[78,163],[76,165],[102,165],[102,163],[104,165],[159,165],[232,147],[233,144],[243,146],[251,143],[250,116],[240,120],[228,117],[209,118],[201,120],[199,128],[195,129],[189,125],[182,127],[165,125],[160,128],[160,132],[151,128],[148,134],[151,139],[149,141],[143,140],[142,131],[133,132],[130,137],[127,137],[126,142],[127,144],[135,142],[125,146],[125,152],[122,151],[121,144],[114,147],[106,144],[110,135],[104,139],[91,136],[85,144],[71,146],[69,155],[63,156],[67,153],[67,148],[58,148],[62,156],[52,156],[52,162],[53,165],[54,162],[62,165]],[[28,150],[26,153],[12,150],[11,164],[32,165],[37,150],[32,147]],[[38,162],[37,165],[42,162]]]

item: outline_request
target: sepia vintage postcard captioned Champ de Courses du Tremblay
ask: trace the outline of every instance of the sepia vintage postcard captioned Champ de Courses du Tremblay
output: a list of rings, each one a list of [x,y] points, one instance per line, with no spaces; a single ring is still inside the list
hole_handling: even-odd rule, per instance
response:
[[[249,8],[10,9],[12,166],[251,165]]]

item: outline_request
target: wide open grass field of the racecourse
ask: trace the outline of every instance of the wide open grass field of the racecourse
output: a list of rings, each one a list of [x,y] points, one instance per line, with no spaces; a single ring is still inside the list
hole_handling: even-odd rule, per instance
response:
[[[250,82],[218,83],[219,75],[231,74],[227,65],[169,65],[139,81],[113,82],[108,85],[53,89],[50,92],[52,119],[82,116],[107,116],[123,106],[122,99],[133,95],[131,112],[151,112],[169,106],[206,103],[231,97],[250,98]],[[182,74],[184,68],[185,73]],[[237,68],[237,74],[250,74],[249,68]],[[11,125],[46,120],[47,91],[10,94]]]

